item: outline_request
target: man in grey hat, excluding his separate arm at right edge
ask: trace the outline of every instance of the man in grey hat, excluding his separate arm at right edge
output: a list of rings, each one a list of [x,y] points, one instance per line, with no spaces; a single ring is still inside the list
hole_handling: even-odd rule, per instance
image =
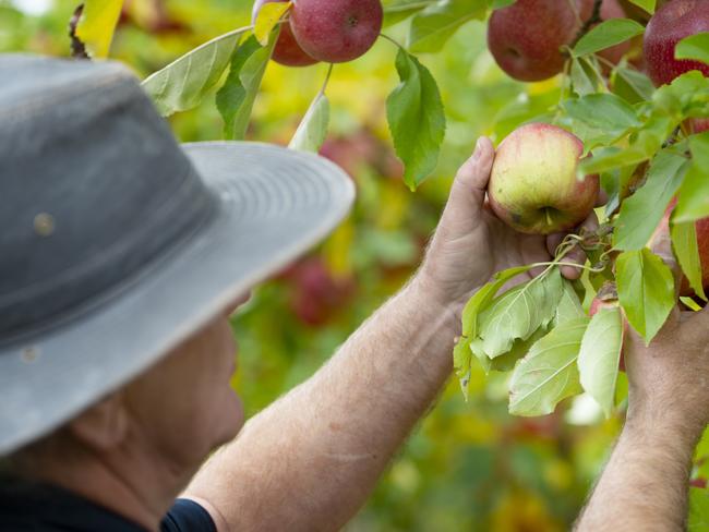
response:
[[[350,182],[281,148],[179,147],[112,63],[5,57],[0,78],[0,530],[337,530],[448,377],[470,294],[561,239],[485,208],[480,140],[419,273],[235,439],[228,315]]]

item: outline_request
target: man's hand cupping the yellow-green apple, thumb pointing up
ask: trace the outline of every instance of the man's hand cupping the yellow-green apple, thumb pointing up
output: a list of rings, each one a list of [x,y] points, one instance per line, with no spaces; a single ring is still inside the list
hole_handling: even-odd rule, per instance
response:
[[[458,170],[418,276],[441,304],[456,305],[458,313],[472,292],[493,274],[513,266],[550,261],[564,237],[522,234],[495,217],[485,201],[493,159],[492,143],[481,137],[472,157]],[[597,225],[593,214],[584,223],[589,230],[594,230]],[[584,258],[582,252],[576,249],[566,261],[582,262]],[[580,270],[564,266],[562,274],[575,279]]]

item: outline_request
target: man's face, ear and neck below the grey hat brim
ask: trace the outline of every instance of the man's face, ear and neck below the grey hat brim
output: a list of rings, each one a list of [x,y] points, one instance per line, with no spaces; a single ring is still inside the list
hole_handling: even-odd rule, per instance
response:
[[[139,479],[161,469],[180,484],[243,425],[230,386],[237,346],[229,315],[248,299],[238,298],[137,378],[15,452],[11,472],[60,481],[98,461]],[[142,471],[146,462],[155,467]]]

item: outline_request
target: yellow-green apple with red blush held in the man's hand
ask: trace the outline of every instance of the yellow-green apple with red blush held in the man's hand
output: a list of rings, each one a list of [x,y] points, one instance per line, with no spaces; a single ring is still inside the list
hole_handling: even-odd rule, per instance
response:
[[[549,234],[584,221],[599,193],[598,176],[576,177],[581,141],[545,123],[513,131],[497,148],[488,196],[495,215],[517,231]]]

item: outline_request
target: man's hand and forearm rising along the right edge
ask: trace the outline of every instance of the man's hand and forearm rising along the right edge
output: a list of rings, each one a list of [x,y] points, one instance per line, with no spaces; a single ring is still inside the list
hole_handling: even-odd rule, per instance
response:
[[[682,273],[669,231],[652,249]],[[629,329],[624,342],[628,411],[577,529],[682,531],[687,517],[692,456],[709,422],[709,309],[675,309],[649,346]]]

